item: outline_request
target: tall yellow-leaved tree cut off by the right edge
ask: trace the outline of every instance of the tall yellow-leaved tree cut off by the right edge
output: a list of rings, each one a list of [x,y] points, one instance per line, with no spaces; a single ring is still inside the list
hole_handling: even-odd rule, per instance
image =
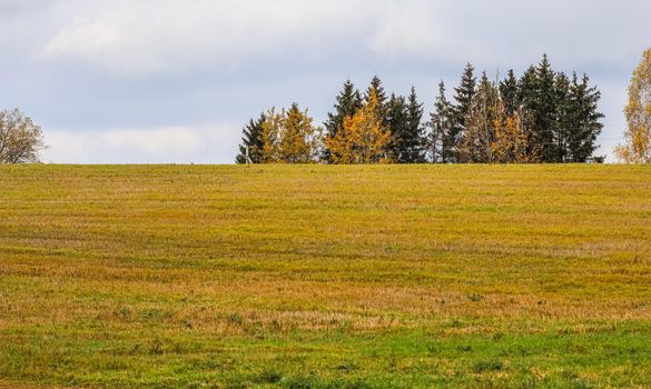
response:
[[[618,146],[615,154],[624,163],[651,163],[651,49],[633,72],[624,112],[629,124],[625,144]]]

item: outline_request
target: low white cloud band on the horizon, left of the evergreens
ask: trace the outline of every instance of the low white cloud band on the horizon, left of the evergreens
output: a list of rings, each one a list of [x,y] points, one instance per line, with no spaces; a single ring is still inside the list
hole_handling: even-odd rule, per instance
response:
[[[43,161],[58,163],[231,163],[236,126],[49,130]]]

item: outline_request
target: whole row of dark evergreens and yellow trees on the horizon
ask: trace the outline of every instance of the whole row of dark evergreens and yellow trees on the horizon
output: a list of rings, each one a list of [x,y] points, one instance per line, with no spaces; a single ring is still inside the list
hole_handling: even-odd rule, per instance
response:
[[[546,56],[521,77],[463,71],[444,82],[425,118],[412,88],[388,94],[378,77],[361,92],[343,84],[323,127],[297,103],[269,109],[243,129],[238,163],[566,163],[594,157],[603,128],[600,91],[586,74],[555,71]]]

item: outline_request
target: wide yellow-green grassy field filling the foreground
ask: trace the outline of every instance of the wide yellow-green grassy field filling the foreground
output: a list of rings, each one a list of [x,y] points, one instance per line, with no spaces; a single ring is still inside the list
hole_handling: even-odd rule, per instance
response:
[[[650,387],[651,167],[0,167],[0,387]]]

